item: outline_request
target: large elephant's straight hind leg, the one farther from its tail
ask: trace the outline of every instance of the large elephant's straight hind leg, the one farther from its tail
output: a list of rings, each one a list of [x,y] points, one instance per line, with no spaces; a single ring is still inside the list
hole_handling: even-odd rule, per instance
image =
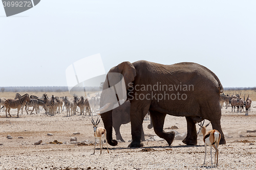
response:
[[[196,145],[197,144],[197,129],[196,124],[193,119],[190,117],[186,117],[187,120],[187,136],[182,140],[183,143],[188,145]]]

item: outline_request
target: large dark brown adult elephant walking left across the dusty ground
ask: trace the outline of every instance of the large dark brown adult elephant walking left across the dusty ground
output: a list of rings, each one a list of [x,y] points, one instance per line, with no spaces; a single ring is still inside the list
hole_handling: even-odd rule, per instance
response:
[[[122,82],[121,88],[120,85],[116,86],[119,82]],[[223,86],[214,72],[197,63],[164,65],[145,60],[133,63],[125,61],[109,70],[103,83],[98,111],[108,143],[112,146],[118,144],[112,138],[112,111],[117,103],[109,99],[114,98],[119,105],[123,103],[120,99],[131,103],[132,142],[128,147],[143,147],[141,129],[147,111],[151,113],[155,133],[165,139],[168,145],[172,144],[175,132],[163,130],[166,114],[185,116],[187,135],[183,143],[196,145],[196,123],[207,119],[212,128],[221,133],[220,144],[225,144],[221,129],[222,92]],[[126,95],[119,96],[121,93]]]

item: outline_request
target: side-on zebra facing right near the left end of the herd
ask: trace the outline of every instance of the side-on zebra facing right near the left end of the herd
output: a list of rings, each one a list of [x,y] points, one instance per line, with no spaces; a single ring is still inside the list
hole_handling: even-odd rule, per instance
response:
[[[21,96],[19,99],[7,99],[5,101],[5,113],[6,113],[6,117],[7,117],[7,111],[10,114],[10,110],[12,109],[18,109],[17,111],[17,117],[18,117],[18,112],[20,110],[20,108],[22,108],[22,106],[26,103],[26,102],[30,102],[30,98],[29,98],[29,94],[24,94],[23,96]],[[2,108],[1,108],[2,109]]]

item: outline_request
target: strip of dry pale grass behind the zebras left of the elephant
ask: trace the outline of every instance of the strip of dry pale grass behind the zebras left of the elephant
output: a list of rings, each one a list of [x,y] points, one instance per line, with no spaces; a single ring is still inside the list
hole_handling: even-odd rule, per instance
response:
[[[88,91],[91,95],[94,96],[95,91]],[[88,93],[87,92],[87,93]],[[0,92],[0,98],[6,98],[6,99],[14,99],[17,92]],[[37,91],[30,91],[30,92],[18,92],[20,95],[28,93],[29,95],[35,95],[38,97],[41,97],[42,94],[46,93],[49,97],[51,95],[62,97],[62,96],[68,96],[69,98],[73,98],[73,93],[69,93],[69,91],[63,91],[63,92],[37,92]]]

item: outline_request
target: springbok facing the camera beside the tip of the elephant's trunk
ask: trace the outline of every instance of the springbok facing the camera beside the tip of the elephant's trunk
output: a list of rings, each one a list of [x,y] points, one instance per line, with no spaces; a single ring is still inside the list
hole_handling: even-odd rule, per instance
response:
[[[102,128],[102,127],[97,128],[97,125],[100,122],[100,119],[99,119],[99,122],[98,122],[98,119],[99,119],[99,117],[97,118],[96,123],[94,123],[94,120],[93,120],[93,117],[92,117],[92,124],[93,124],[93,128],[94,128],[94,137],[95,137],[94,152],[93,152],[93,154],[95,154],[96,139],[99,139],[100,154],[101,154],[102,149],[103,149],[103,141],[101,140],[101,137],[104,137],[105,140],[106,140],[106,130],[105,130],[105,128]],[[101,148],[101,142],[102,142],[102,148]],[[106,148],[108,149],[108,153],[110,153],[109,152],[109,148],[108,148],[108,141],[107,140],[106,140]]]

